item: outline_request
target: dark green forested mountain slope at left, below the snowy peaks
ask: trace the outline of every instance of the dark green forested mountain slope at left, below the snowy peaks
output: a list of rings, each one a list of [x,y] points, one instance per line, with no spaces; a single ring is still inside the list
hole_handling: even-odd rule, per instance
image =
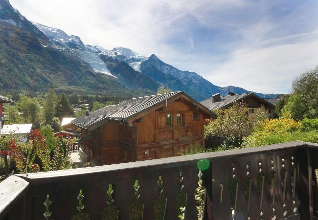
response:
[[[2,93],[67,92],[128,98],[150,94],[124,87],[116,78],[93,71],[73,54],[51,45],[48,38],[0,0],[0,88]]]

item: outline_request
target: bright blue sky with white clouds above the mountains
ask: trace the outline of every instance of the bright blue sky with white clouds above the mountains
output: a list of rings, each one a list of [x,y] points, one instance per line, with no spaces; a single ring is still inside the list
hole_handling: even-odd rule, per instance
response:
[[[289,93],[318,65],[317,0],[10,0],[84,44],[128,47],[217,86]]]

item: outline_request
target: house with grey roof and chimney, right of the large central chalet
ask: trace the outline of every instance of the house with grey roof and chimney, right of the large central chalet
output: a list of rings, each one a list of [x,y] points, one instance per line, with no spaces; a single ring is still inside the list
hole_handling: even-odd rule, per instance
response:
[[[233,106],[235,102],[241,101],[247,104],[247,107],[249,108],[249,114],[253,114],[258,110],[259,107],[263,106],[263,109],[268,112],[268,116],[273,118],[275,106],[252,92],[243,94],[234,94],[233,92],[228,92],[228,95],[225,96],[221,96],[220,93],[217,93],[202,101],[201,104],[209,110],[214,111],[217,109],[227,109]]]

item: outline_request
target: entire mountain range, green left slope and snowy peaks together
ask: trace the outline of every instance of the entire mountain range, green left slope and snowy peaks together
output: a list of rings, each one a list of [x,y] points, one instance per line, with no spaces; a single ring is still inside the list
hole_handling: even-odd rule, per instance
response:
[[[85,45],[80,37],[61,29],[29,22],[7,0],[0,0],[0,46],[0,86],[5,91],[55,88],[127,97],[156,93],[160,82],[198,101],[217,92],[249,92],[213,85],[195,72],[162,62],[155,54],[146,57],[124,47],[108,50]]]

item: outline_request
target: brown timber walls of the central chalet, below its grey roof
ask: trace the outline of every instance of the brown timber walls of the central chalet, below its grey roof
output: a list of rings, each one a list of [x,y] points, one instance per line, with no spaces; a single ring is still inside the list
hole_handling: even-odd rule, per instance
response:
[[[198,107],[199,106],[199,107]],[[82,149],[97,165],[178,156],[204,148],[204,121],[213,113],[181,94],[127,121],[81,129]],[[90,138],[88,138],[90,137]]]

